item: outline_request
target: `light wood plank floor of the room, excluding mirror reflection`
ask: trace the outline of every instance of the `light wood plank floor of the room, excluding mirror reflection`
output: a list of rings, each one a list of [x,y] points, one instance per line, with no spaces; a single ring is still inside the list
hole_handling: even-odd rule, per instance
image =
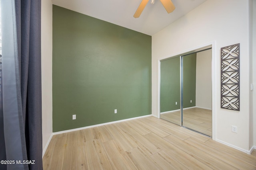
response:
[[[256,170],[248,155],[209,137],[144,117],[54,135],[44,170]]]

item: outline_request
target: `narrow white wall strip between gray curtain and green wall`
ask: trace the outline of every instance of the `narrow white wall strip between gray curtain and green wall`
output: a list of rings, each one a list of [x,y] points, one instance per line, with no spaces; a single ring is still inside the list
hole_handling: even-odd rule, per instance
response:
[[[43,154],[52,136],[52,1],[42,0],[42,136]]]

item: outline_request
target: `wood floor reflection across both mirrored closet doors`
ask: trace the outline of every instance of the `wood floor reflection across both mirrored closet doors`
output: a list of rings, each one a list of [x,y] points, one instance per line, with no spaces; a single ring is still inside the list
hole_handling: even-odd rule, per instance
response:
[[[161,119],[180,124],[180,111],[162,113]],[[183,126],[212,136],[212,110],[193,107],[183,109]]]

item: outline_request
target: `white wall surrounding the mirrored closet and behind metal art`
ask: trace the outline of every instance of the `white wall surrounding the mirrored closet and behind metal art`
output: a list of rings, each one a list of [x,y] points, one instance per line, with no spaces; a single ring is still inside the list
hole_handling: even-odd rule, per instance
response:
[[[249,2],[207,0],[152,36],[152,114],[158,114],[158,59],[213,44],[213,139],[247,152],[249,135]],[[240,111],[220,109],[220,48],[240,43]],[[231,126],[238,133],[231,132]]]

